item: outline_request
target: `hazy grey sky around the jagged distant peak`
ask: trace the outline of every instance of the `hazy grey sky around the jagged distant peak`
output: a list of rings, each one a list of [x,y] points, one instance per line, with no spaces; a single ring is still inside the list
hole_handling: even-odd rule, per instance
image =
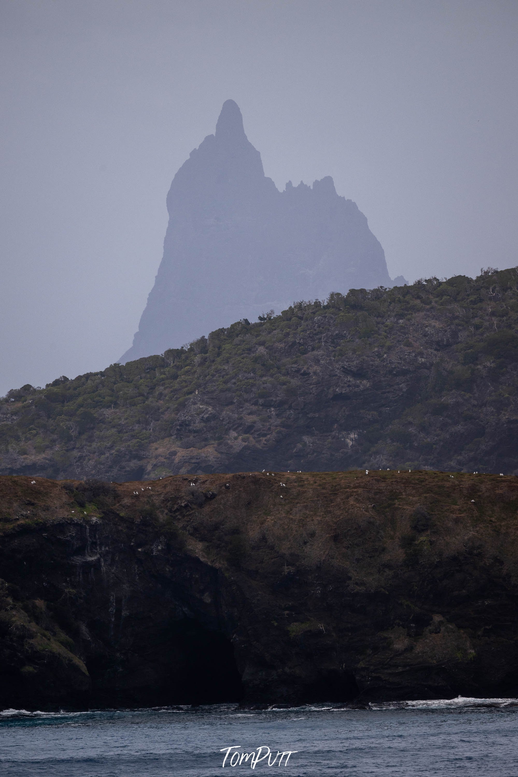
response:
[[[172,176],[225,99],[280,189],[331,175],[356,201],[392,277],[518,264],[517,20],[515,0],[0,0],[0,395],[130,346]]]

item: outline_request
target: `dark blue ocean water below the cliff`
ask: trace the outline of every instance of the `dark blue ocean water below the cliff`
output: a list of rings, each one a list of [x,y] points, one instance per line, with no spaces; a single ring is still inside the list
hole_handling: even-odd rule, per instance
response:
[[[518,777],[518,700],[0,713],[5,777],[212,777],[232,746],[233,775]]]

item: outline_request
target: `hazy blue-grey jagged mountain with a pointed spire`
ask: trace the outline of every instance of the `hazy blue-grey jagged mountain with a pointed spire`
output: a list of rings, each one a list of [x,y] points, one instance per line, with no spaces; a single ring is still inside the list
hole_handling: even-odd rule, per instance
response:
[[[367,218],[330,176],[283,192],[266,178],[231,99],[176,173],[167,207],[164,256],[123,363],[294,300],[395,283]]]

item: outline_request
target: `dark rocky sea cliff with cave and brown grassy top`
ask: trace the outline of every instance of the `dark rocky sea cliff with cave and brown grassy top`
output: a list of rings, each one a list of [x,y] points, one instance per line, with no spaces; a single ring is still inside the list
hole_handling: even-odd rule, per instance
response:
[[[518,692],[518,485],[0,479],[0,706]]]

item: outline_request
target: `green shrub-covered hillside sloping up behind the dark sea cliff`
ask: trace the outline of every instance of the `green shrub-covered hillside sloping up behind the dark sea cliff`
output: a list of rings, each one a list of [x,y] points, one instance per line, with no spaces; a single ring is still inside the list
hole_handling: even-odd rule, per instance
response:
[[[0,472],[518,472],[518,270],[330,294],[0,403]]]

